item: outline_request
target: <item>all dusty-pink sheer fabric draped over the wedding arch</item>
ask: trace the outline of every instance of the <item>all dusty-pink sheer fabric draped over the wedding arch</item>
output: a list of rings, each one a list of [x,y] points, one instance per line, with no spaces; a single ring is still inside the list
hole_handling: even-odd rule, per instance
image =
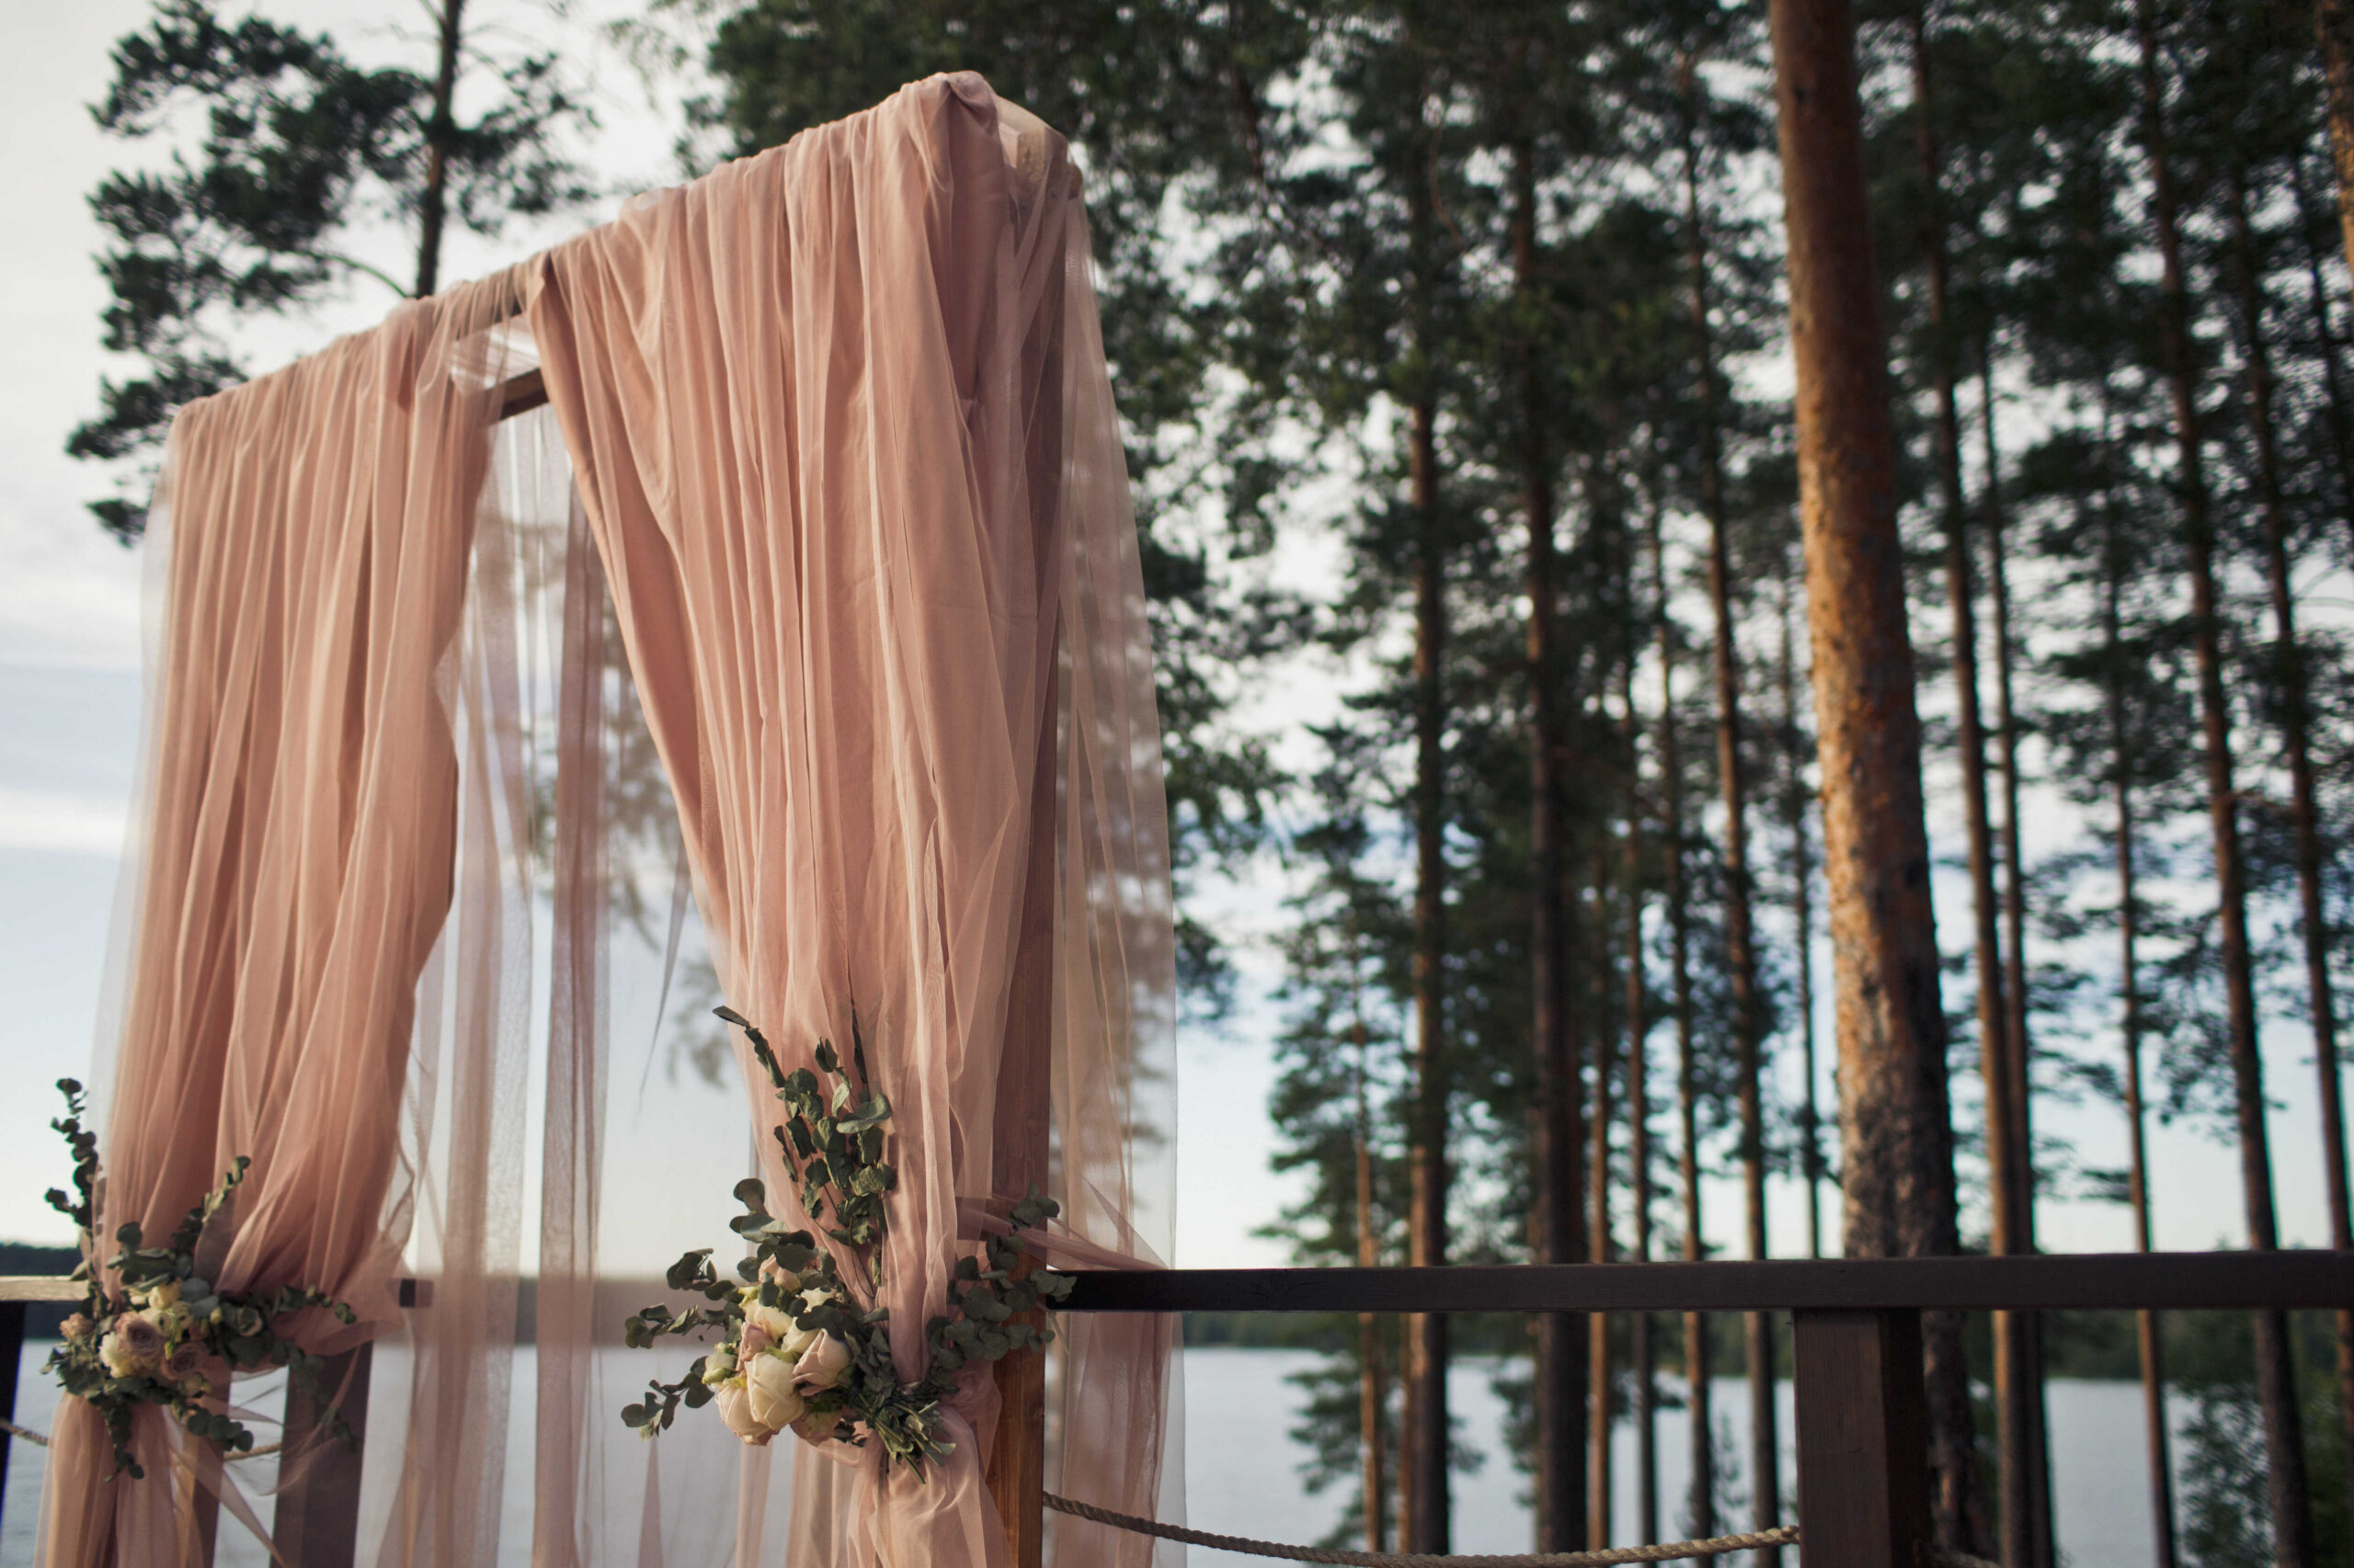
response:
[[[551,407],[504,419],[532,365]],[[650,732],[727,1001],[789,1067],[857,1017],[892,1099],[880,1304],[902,1375],[956,1260],[1022,1196],[1000,1180],[1000,1125],[1031,1111],[998,1104],[1010,1038],[1052,1081],[1048,1257],[1168,1255],[1151,643],[1062,139],[975,75],[932,78],[640,198],[188,405],[151,530],[162,631],[99,1236],[167,1231],[252,1156],[210,1276],[320,1285],[360,1321],[311,1314],[306,1349],[386,1347],[360,1561],[1005,1568],[986,1368],[927,1481],[843,1446],[751,1450],[709,1413],[654,1443],[619,1424],[643,1373],[692,1351],[619,1351],[638,1302],[598,1290],[607,1180],[666,1175],[659,1147],[605,1137],[607,916],[617,819],[673,815],[659,784],[614,782]],[[739,1067],[791,1212],[777,1107]],[[730,1109],[711,1142],[737,1140]],[[395,1276],[428,1304],[400,1311]],[[1057,1328],[1048,1486],[1179,1519],[1175,1323]],[[273,1528],[271,1464],[224,1467],[153,1408],[134,1443],[151,1481],[111,1479],[101,1422],[66,1401],[49,1568],[198,1563],[214,1497]],[[299,1537],[273,1549],[301,1568]],[[1076,1521],[1050,1521],[1050,1549],[1059,1568],[1156,1554]]]

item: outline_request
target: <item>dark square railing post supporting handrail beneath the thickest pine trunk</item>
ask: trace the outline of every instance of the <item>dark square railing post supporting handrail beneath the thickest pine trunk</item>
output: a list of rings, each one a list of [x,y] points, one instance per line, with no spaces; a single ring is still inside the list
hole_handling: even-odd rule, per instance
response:
[[[1921,1314],[1794,1318],[1806,1568],[1914,1568],[1930,1540]]]

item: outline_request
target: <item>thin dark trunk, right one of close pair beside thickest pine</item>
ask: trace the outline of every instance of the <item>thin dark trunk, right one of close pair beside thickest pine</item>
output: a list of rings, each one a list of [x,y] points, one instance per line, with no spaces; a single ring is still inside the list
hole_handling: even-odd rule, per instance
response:
[[[2020,723],[2013,706],[2010,671],[2010,563],[2003,549],[2003,461],[1994,445],[1994,344],[1980,344],[1977,414],[1987,452],[1987,600],[1994,619],[1994,737],[2003,768],[2003,1069],[2010,1088],[2010,1194],[2020,1253],[2036,1250],[2036,1123],[2034,1036],[2027,1031],[2027,869],[2020,848]],[[2017,1389],[2027,1427],[2027,1533],[2036,1568],[2053,1568],[2053,1469],[2050,1413],[2043,1398],[2043,1318],[2032,1311],[2006,1314],[2017,1340]]]

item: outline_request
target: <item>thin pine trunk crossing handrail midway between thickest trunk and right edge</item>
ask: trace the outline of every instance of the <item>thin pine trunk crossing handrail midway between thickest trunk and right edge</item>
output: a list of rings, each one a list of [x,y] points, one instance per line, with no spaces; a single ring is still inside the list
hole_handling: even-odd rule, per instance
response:
[[[2107,436],[2107,377],[2102,377],[2102,424]],[[2116,937],[2119,937],[2119,1031],[2126,1052],[2126,1130],[2128,1158],[2126,1194],[2133,1203],[2133,1245],[2149,1250],[2149,1147],[2147,1118],[2142,1114],[2142,968],[2140,968],[2140,883],[2133,855],[2133,768],[2135,746],[2126,720],[2126,652],[2123,652],[2123,593],[2126,593],[2126,546],[2119,539],[2116,501],[2102,504],[2104,520],[2104,584],[2102,584],[2102,640],[2107,650],[2107,709],[2109,709],[2109,758],[2114,777],[2109,793],[2116,800]],[[2133,1314],[2135,1344],[2142,1361],[2142,1427],[2149,1450],[2149,1523],[2156,1542],[2156,1568],[2175,1568],[2175,1469],[2170,1427],[2166,1424],[2166,1356],[2159,1333],[2159,1314]]]

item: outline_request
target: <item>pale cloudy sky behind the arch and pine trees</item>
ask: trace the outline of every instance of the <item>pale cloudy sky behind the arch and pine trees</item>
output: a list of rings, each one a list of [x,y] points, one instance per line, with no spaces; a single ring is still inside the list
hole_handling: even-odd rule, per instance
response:
[[[567,66],[591,87],[603,129],[586,148],[593,167],[619,193],[673,179],[676,120],[650,104],[640,82],[598,42],[593,14],[511,0],[497,19],[508,38],[532,38],[565,52]],[[99,231],[85,193],[125,160],[125,148],[97,132],[85,106],[108,78],[108,45],[141,24],[134,0],[28,5],[12,0],[0,54],[0,1238],[68,1241],[68,1227],[40,1203],[40,1191],[64,1182],[61,1142],[47,1130],[56,1111],[52,1081],[87,1074],[101,1003],[108,921],[127,819],[134,739],[141,704],[141,556],[104,539],[82,501],[104,492],[101,476],[64,457],[78,419],[97,407],[104,287],[92,264]],[[384,59],[410,52],[407,33],[421,12],[351,0],[280,0],[273,16],[308,28],[332,28],[346,47]],[[591,214],[593,217],[593,214]],[[560,238],[572,224],[511,231],[497,240],[461,235],[445,275],[471,275],[513,261]],[[381,235],[386,245],[391,235]],[[398,250],[386,250],[386,259]],[[391,304],[386,294],[355,292],[315,315],[275,323],[252,337],[252,358],[271,365],[341,330],[365,327]],[[1285,549],[1290,582],[1314,582],[1330,570],[1328,539],[1306,527]],[[1335,704],[1346,671],[1304,662],[1281,680],[1255,683],[1252,723],[1278,732],[1299,756],[1299,725]],[[1935,697],[1928,697],[1935,706]],[[1935,782],[1935,779],[1933,779]],[[2057,848],[2064,812],[2029,812],[2029,850]],[[1933,824],[1954,843],[1951,822]],[[2039,843],[2041,838],[2041,843]],[[1233,1017],[1189,1029],[1179,1050],[1179,1184],[1177,1264],[1255,1267],[1283,1262],[1281,1243],[1257,1238],[1274,1220],[1288,1182],[1269,1175],[1274,1132],[1264,1107],[1274,1083],[1266,1041],[1278,1026],[1269,1001],[1276,963],[1259,939],[1278,918],[1281,876],[1262,866],[1245,883],[1212,890],[1210,911],[1236,937],[1243,975]],[[1947,944],[1959,946],[1966,888],[1940,878]],[[652,994],[659,975],[626,961],[617,998],[636,1024],[617,1026],[614,1128],[624,1149],[643,1149],[676,1180],[704,1182],[713,1194],[709,1227],[727,1210],[732,1182],[727,1140],[711,1125],[739,1116],[720,1090],[671,1083],[645,1071],[652,1034]],[[1829,1102],[1829,961],[1817,954],[1817,1019],[1822,1095]],[[636,1034],[631,1031],[636,1029]],[[1664,1050],[1664,1043],[1655,1045]],[[2309,1052],[2293,1029],[2267,1041],[2281,1227],[2293,1243],[2326,1236],[2321,1217],[2319,1137]],[[647,1092],[638,1095],[645,1078]],[[1796,1081],[1784,1067],[1782,1092]],[[2086,1163],[2121,1163],[2121,1128],[2107,1107],[2048,1107],[2041,1128],[2081,1149]],[[718,1149],[720,1154],[713,1154]],[[617,1154],[617,1161],[631,1158]],[[701,1163],[697,1163],[701,1161]],[[2229,1149],[2189,1128],[2159,1128],[2152,1147],[2161,1212],[2161,1245],[2208,1248],[2236,1243],[2239,1172]],[[709,1165],[709,1172],[701,1170]],[[647,1172],[612,1165],[607,1191],[610,1271],[650,1271],[678,1245],[680,1212]],[[1733,1236],[1735,1194],[1709,1191],[1714,1241]],[[1836,1196],[1829,1231],[1836,1236]],[[1803,1250],[1803,1198],[1777,1182],[1770,1229],[1777,1253]],[[694,1215],[699,1227],[704,1215]],[[676,1241],[676,1243],[673,1243]],[[704,1243],[711,1236],[701,1238]],[[2107,1250],[2128,1245],[2121,1208],[2048,1203],[2043,1245]]]

